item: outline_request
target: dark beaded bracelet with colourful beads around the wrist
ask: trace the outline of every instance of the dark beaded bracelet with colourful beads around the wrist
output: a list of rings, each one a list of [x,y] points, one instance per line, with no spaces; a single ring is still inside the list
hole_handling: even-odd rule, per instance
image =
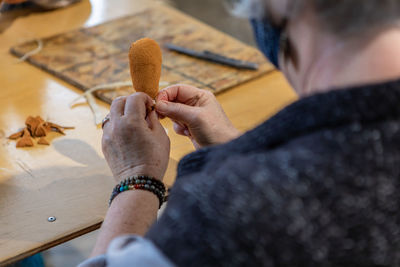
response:
[[[117,184],[111,193],[108,205],[111,205],[111,202],[119,193],[127,190],[146,190],[152,192],[158,197],[160,208],[165,201],[165,185],[163,182],[153,177],[138,175],[126,178]]]

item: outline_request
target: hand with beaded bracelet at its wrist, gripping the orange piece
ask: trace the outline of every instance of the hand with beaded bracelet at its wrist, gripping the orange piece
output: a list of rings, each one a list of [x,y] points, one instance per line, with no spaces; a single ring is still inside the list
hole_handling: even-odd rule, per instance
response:
[[[167,170],[170,141],[144,93],[112,102],[110,121],[104,125],[103,153],[117,182],[132,175],[162,180]]]

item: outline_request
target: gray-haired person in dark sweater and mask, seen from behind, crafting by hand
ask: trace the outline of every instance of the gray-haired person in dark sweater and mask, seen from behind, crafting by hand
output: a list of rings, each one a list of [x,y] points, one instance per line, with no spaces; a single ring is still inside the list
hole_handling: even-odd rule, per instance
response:
[[[115,193],[81,266],[400,266],[400,2],[244,2],[301,99],[240,136],[212,94],[162,91],[156,112],[197,151],[157,222],[160,194]],[[169,140],[150,104],[112,103],[116,182],[164,176]]]

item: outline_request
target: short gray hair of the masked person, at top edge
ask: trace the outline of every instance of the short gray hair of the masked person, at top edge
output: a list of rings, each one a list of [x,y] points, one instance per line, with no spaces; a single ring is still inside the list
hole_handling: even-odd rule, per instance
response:
[[[226,0],[232,13],[247,18],[265,16],[268,0]],[[362,34],[399,26],[399,0],[289,0],[315,10],[321,25],[337,35]],[[299,11],[299,10],[297,10]],[[296,12],[297,13],[297,12]]]

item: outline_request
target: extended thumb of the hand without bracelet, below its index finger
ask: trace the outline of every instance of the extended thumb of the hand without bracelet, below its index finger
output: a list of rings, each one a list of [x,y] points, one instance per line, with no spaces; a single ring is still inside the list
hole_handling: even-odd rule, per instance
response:
[[[186,124],[193,123],[195,107],[191,107],[181,103],[158,101],[156,103],[156,110],[162,116],[168,117],[172,120],[184,122]]]

